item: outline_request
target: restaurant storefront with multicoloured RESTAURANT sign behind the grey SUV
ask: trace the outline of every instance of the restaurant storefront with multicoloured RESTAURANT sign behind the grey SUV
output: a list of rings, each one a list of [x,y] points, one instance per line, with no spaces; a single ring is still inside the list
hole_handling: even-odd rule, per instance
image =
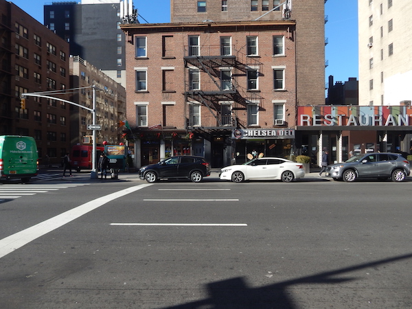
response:
[[[330,163],[359,153],[411,152],[409,106],[299,106],[297,117],[297,153],[314,166],[324,150]]]

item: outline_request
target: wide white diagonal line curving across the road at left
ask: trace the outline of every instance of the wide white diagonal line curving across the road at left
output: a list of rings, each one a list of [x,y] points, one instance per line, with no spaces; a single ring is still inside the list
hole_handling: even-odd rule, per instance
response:
[[[148,186],[150,186],[150,184],[135,185],[134,187],[128,187],[122,191],[108,194],[106,196],[102,196],[101,198],[96,198],[93,201],[65,211],[62,214],[40,222],[37,225],[29,227],[28,229],[24,229],[23,231],[19,231],[18,233],[3,238],[0,240],[0,258],[3,258],[3,256],[23,247],[25,244],[32,242],[36,238],[54,231],[55,229],[62,227],[63,225],[79,218],[80,216],[83,216],[84,214],[87,214],[94,209],[97,209],[110,201],[115,200],[116,198],[120,198]]]

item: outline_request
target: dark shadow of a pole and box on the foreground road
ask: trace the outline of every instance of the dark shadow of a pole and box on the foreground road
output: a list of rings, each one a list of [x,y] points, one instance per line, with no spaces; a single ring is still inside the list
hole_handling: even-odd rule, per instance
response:
[[[278,282],[260,288],[251,288],[244,277],[235,277],[220,282],[211,282],[205,286],[209,297],[164,309],[300,309],[287,289],[299,284],[341,284],[358,279],[347,274],[364,268],[390,264],[412,258],[412,253],[393,258],[358,264],[346,268],[317,273],[296,279]],[[340,277],[345,275],[345,277]]]

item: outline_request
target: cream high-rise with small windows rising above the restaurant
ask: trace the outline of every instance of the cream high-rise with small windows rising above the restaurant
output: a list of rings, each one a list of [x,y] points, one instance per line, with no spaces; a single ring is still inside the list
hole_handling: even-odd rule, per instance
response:
[[[359,104],[411,104],[412,27],[409,0],[358,1]]]

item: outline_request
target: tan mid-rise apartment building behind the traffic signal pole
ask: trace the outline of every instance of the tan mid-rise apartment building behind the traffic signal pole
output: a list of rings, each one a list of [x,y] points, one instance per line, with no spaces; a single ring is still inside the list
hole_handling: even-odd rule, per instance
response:
[[[122,139],[122,130],[119,121],[126,119],[126,89],[109,78],[100,69],[91,65],[79,56],[71,56],[70,84],[73,89],[79,89],[71,95],[72,102],[93,108],[93,89],[95,86],[96,124],[102,125],[97,130],[96,143],[119,144]],[[71,144],[87,144],[84,137],[91,137],[93,132],[87,130],[87,124],[93,124],[93,115],[84,108],[70,106]]]

